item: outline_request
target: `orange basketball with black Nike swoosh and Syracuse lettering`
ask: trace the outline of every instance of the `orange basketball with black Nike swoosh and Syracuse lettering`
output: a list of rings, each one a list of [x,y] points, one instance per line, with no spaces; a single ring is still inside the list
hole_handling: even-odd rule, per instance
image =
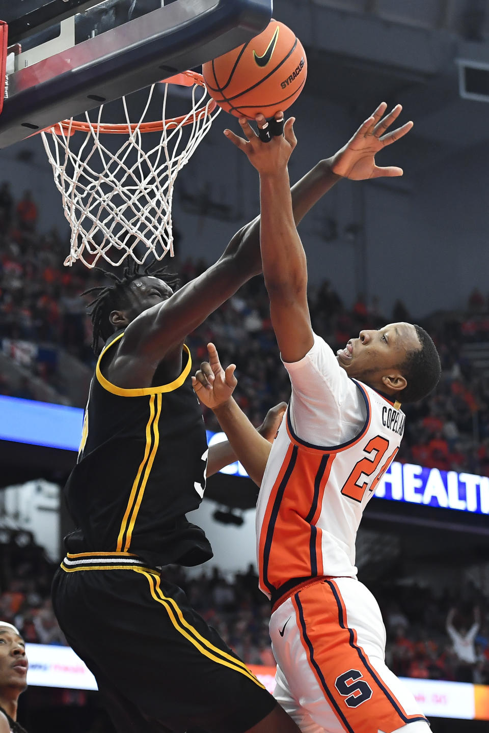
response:
[[[273,19],[248,43],[202,65],[210,96],[235,117],[273,117],[304,89],[306,54],[301,41]]]

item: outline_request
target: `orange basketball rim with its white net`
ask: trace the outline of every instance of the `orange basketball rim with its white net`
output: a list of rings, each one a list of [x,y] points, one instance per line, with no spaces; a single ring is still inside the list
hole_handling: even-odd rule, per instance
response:
[[[155,84],[149,87],[139,122],[130,122],[122,97],[126,122],[109,125],[100,121],[65,119],[41,136],[62,195],[65,217],[71,227],[70,255],[65,265],[80,259],[88,268],[100,257],[120,265],[132,257],[140,265],[151,255],[173,256],[172,196],[178,172],[221,111],[210,97],[201,74],[191,71],[164,79],[163,109],[157,122],[144,122]],[[192,108],[181,117],[166,119],[169,84],[192,86]],[[202,92],[202,95],[199,94]],[[184,128],[188,134],[184,135]],[[78,147],[73,140],[84,139]],[[161,133],[150,150],[143,150],[142,133]],[[114,152],[104,135],[124,135]],[[113,138],[111,138],[113,140]]]

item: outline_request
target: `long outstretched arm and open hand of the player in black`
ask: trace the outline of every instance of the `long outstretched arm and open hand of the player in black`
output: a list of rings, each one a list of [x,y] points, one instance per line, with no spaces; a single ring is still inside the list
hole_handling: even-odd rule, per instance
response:
[[[295,224],[342,177],[362,180],[402,174],[399,168],[379,168],[375,165],[375,153],[400,139],[412,127],[412,122],[407,122],[401,128],[387,133],[386,130],[400,114],[401,107],[397,105],[390,114],[383,117],[385,110],[386,104],[380,104],[372,117],[361,125],[341,150],[331,158],[317,163],[293,186]],[[225,133],[235,144],[240,140],[230,130],[225,130]],[[117,369],[114,364],[114,371],[122,372],[122,380],[125,372],[130,372],[137,379],[140,378],[139,372],[142,378],[147,371],[152,374],[153,364],[161,361],[169,352],[179,350],[187,334],[233,295],[244,282],[260,272],[259,216],[232,237],[222,257],[205,273],[186,284],[165,303],[141,314],[126,328],[119,351],[123,366],[122,369]],[[139,368],[132,362],[128,363],[133,357],[139,360]],[[145,367],[140,360],[147,361],[148,366]],[[115,373],[113,378],[117,379]]]

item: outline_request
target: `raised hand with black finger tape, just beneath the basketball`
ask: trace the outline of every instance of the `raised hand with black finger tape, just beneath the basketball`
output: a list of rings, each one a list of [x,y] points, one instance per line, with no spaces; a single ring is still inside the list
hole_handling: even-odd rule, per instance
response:
[[[281,122],[284,119],[284,113],[276,112],[274,117],[277,122]],[[224,130],[224,135],[236,147],[243,150],[260,176],[273,175],[287,168],[290,155],[297,144],[293,128],[294,117],[289,117],[285,122],[283,134],[273,136],[268,142],[260,140],[244,117],[241,117],[239,122],[246,139],[240,138],[231,130]],[[256,122],[259,130],[265,130],[266,126],[270,124],[262,114],[257,114]]]

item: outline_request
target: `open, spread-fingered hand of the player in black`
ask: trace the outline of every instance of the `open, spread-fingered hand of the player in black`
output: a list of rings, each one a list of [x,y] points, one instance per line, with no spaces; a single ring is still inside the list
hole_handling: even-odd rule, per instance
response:
[[[380,103],[375,112],[360,125],[353,138],[329,159],[333,173],[357,181],[382,176],[402,176],[402,168],[380,167],[375,163],[375,154],[379,150],[405,136],[413,127],[413,122],[410,121],[388,133],[392,122],[399,117],[402,106],[397,104],[386,117],[383,117],[386,108],[385,102]]]

